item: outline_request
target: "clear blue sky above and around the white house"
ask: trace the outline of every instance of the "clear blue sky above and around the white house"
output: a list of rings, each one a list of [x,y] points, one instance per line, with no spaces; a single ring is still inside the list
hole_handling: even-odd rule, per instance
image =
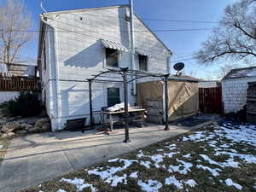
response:
[[[38,15],[42,12],[41,0],[24,0],[27,9],[32,12],[33,28],[38,29]],[[42,0],[44,9],[57,11],[64,9],[85,9],[118,4],[127,4],[123,0]],[[164,20],[201,20],[218,21],[224,13],[224,8],[236,0],[134,0],[137,15],[147,19]],[[193,23],[144,20],[152,30],[159,29],[193,29],[212,28],[217,23]],[[201,47],[201,43],[211,34],[211,30],[195,32],[156,32],[157,36],[173,52],[172,61],[183,61],[185,72],[196,73],[197,77],[209,79],[209,74],[218,68],[217,65],[205,67],[191,60],[192,53]],[[23,55],[35,58],[38,48],[38,32],[33,41],[24,49]],[[214,77],[213,77],[214,78]]]

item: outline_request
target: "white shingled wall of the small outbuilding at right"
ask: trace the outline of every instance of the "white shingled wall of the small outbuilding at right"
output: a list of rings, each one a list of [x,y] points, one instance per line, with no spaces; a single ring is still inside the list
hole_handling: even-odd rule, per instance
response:
[[[236,113],[243,108],[247,102],[247,83],[253,81],[256,81],[256,77],[224,79],[222,81],[224,113]]]

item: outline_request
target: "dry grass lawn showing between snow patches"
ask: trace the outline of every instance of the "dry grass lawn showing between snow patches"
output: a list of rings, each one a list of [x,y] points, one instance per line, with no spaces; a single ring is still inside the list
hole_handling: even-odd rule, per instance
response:
[[[189,133],[191,134],[191,133]],[[188,135],[188,134],[186,134]],[[213,138],[212,140],[214,140]],[[229,142],[229,141],[224,141]],[[227,155],[215,156],[215,151],[208,146],[206,142],[183,142],[181,137],[174,137],[168,141],[157,143],[147,148],[142,148],[144,154],[156,154],[157,148],[165,148],[166,143],[175,143],[177,148],[173,150],[173,152],[178,152],[172,158],[165,158],[161,165],[177,165],[178,160],[184,160],[186,162],[190,162],[193,165],[198,164],[198,160],[202,160],[199,154],[207,154],[212,160],[216,161],[224,161],[227,160],[229,157]],[[251,145],[245,144],[238,144],[234,148],[238,152],[244,152],[244,149],[247,149],[247,154],[253,154],[256,156],[256,149],[253,148]],[[138,151],[133,153],[125,154],[123,156],[119,156],[119,158],[129,159],[129,160],[137,160]],[[163,152],[158,152],[158,154],[162,154],[167,152],[166,148]],[[170,152],[170,151],[168,151]],[[183,155],[191,154],[191,158],[187,159],[184,158]],[[236,158],[235,158],[236,159]],[[148,157],[143,157],[140,160],[150,160]],[[256,192],[256,189],[253,188],[253,185],[256,183],[256,180],[253,177],[256,177],[256,164],[245,164],[240,159],[236,159],[237,162],[240,163],[240,168],[232,168],[232,167],[225,167],[220,172],[220,175],[217,177],[213,177],[210,172],[203,171],[201,169],[196,168],[195,166],[191,167],[191,172],[187,174],[180,174],[178,172],[170,173],[166,172],[163,168],[156,168],[155,166],[151,165],[149,169],[144,166],[141,166],[137,163],[132,164],[129,168],[125,169],[122,172],[118,172],[117,175],[123,176],[124,174],[130,175],[131,172],[138,171],[138,178],[131,178],[127,177],[127,184],[119,183],[117,187],[111,187],[110,184],[105,183],[102,179],[95,175],[89,175],[86,170],[92,170],[96,167],[105,167],[106,166],[123,166],[123,163],[119,162],[112,162],[112,163],[102,163],[96,166],[85,167],[82,170],[71,172],[67,174],[65,178],[84,178],[84,183],[93,184],[99,192],[138,192],[142,191],[140,186],[137,185],[138,179],[142,179],[143,181],[150,179],[157,180],[160,183],[165,183],[165,178],[175,176],[178,180],[188,180],[190,178],[195,179],[196,183],[198,184],[195,188],[191,188],[189,186],[184,186],[184,189],[177,189],[174,185],[163,185],[163,187],[159,190],[160,192],[180,192],[180,191],[191,191],[191,192],[235,192],[235,191],[243,191],[243,192]],[[219,168],[216,165],[210,165],[207,161],[202,161],[200,163],[203,166],[210,166],[212,168]],[[67,192],[77,191],[75,185],[70,183],[60,182],[62,177],[57,177],[54,180],[49,182],[42,183],[39,186],[32,187],[30,189],[24,189],[20,192],[37,192],[42,190],[44,192],[56,192],[58,189],[64,189]],[[233,181],[236,183],[240,183],[242,185],[242,190],[238,190],[235,187],[229,187],[226,184],[222,183],[221,180],[225,180],[226,178],[232,178]],[[83,191],[90,191],[89,188],[85,188]]]

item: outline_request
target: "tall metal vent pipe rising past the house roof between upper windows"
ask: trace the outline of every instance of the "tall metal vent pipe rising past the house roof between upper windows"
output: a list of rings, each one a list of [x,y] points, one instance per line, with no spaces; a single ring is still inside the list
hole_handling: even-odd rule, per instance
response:
[[[135,64],[135,49],[134,49],[134,21],[133,21],[133,0],[130,0],[130,45],[131,45],[131,69],[136,70]],[[136,95],[136,84],[137,81],[132,81],[132,95]]]

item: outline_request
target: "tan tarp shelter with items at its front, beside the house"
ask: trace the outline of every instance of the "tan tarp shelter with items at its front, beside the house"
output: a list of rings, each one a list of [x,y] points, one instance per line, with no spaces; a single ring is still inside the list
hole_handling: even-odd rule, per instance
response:
[[[186,118],[199,109],[198,82],[189,76],[171,76],[168,79],[168,119]],[[161,123],[164,118],[164,81],[137,84],[137,104],[148,111],[148,121]]]

